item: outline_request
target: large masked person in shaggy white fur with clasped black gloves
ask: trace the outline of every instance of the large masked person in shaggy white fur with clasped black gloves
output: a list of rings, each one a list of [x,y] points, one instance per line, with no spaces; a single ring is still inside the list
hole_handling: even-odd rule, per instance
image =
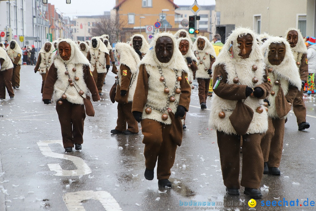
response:
[[[262,196],[263,156],[260,142],[268,129],[264,101],[271,90],[256,35],[249,28],[236,28],[227,38],[213,70],[210,127],[216,129],[224,185],[229,195]],[[240,136],[242,176],[240,172]]]

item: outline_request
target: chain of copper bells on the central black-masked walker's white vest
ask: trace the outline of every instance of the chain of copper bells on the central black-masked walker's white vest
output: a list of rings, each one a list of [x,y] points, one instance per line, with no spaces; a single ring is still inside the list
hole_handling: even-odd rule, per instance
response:
[[[167,94],[166,106],[165,106],[163,109],[156,109],[156,108],[154,108],[153,106],[146,104],[145,106],[146,106],[147,108],[145,109],[145,113],[149,115],[149,114],[151,114],[152,109],[154,109],[154,110],[157,110],[157,111],[159,111],[159,112],[162,113],[162,115],[161,115],[161,119],[162,119],[162,120],[167,120],[167,119],[168,119],[168,115],[167,115],[167,114],[164,114],[164,113],[165,113],[165,111],[167,111],[167,110],[170,109],[170,108],[169,108],[170,102],[175,102],[176,107],[178,107],[179,102],[177,102],[177,100],[174,98],[174,96],[175,96],[175,94],[178,94],[178,95],[179,95],[179,94],[181,93],[181,89],[179,89],[179,83],[180,83],[180,81],[182,80],[182,77],[180,77],[180,76],[178,75],[178,70],[174,70],[174,69],[173,69],[174,73],[176,74],[177,80],[176,80],[176,83],[175,83],[173,92],[172,92],[172,94],[170,94],[170,90],[169,90],[169,88],[168,88],[167,85],[166,85],[165,77],[162,75],[161,66],[158,66],[158,70],[159,70],[159,73],[160,73],[160,76],[161,76],[161,77],[160,77],[160,81],[161,81],[161,82],[163,83],[163,85],[165,86],[165,89],[163,90],[163,92]],[[192,82],[191,82],[191,83],[192,83]],[[171,110],[171,109],[170,109],[170,110]]]

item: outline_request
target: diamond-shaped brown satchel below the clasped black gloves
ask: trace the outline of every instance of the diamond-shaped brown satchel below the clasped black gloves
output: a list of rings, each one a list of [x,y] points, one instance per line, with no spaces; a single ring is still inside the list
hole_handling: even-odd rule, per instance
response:
[[[245,135],[253,118],[253,110],[241,100],[236,103],[236,108],[229,116],[230,123],[238,135]]]

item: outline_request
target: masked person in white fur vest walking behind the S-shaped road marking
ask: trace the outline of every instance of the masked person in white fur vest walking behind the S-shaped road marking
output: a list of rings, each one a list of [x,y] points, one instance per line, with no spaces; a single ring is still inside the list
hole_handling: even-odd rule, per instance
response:
[[[83,125],[86,117],[83,98],[89,91],[93,101],[100,100],[90,71],[90,64],[75,42],[62,39],[57,43],[58,54],[51,65],[43,90],[43,101],[56,102],[65,152],[82,149]],[[53,94],[53,98],[52,98]],[[87,109],[87,108],[86,108]]]

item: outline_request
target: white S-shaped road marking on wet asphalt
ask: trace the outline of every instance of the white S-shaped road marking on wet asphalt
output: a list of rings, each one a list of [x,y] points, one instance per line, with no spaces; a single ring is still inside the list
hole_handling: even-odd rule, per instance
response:
[[[91,173],[91,169],[89,166],[82,160],[76,156],[72,155],[65,155],[65,154],[58,154],[52,152],[51,148],[48,144],[61,144],[63,146],[62,140],[46,140],[46,141],[39,141],[37,145],[40,147],[40,151],[43,155],[52,157],[52,158],[60,158],[65,160],[72,161],[77,169],[74,170],[63,170],[59,164],[47,164],[51,171],[56,171],[57,173],[54,176],[79,176],[79,175],[87,175]]]

